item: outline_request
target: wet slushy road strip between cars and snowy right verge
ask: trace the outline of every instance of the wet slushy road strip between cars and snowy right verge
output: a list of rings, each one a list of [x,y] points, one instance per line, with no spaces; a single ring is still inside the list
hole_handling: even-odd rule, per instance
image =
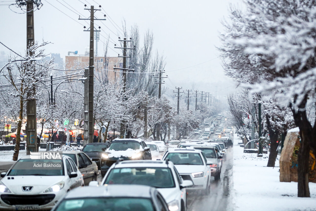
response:
[[[223,162],[221,179],[218,181],[212,177],[210,195],[201,193],[189,193],[188,211],[231,211],[232,208],[232,182],[233,182],[233,151],[228,149],[227,159]]]

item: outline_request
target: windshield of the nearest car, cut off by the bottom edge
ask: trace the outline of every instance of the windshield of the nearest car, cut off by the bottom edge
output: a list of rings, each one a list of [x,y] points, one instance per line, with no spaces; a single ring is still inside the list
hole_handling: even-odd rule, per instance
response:
[[[63,200],[55,211],[154,211],[152,201],[148,198],[96,197]]]

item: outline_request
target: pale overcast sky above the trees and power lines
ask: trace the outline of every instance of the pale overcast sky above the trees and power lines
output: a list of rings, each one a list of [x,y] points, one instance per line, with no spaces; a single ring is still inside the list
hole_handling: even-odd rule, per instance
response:
[[[120,28],[122,28],[122,20],[125,18],[128,28],[135,23],[139,26],[141,35],[147,29],[152,30],[155,37],[154,49],[166,57],[166,71],[214,59],[201,65],[168,72],[169,79],[166,80],[165,86],[170,89],[172,89],[170,86],[183,86],[184,89],[191,89],[192,84],[195,83],[195,89],[207,92],[215,92],[216,88],[221,90],[231,86],[218,92],[219,95],[227,95],[234,90],[232,80],[224,75],[221,60],[216,58],[219,55],[216,46],[220,45],[219,32],[223,31],[221,20],[228,16],[229,3],[240,3],[241,0],[95,0],[95,2],[93,0],[49,0],[48,2],[42,0],[43,6],[34,12],[35,40],[41,41],[44,38],[45,41],[53,42],[46,47],[46,53],[60,53],[63,58],[68,51],[77,50],[79,54],[84,54],[85,47],[89,45],[89,32],[84,32],[81,24],[85,26],[88,24],[83,20],[78,20],[76,13],[80,12],[88,17],[89,11],[83,10],[83,4],[87,4],[89,8],[90,5],[98,7],[101,4],[108,16]],[[6,3],[14,3],[14,1],[0,2],[0,4]],[[14,6],[10,8],[15,12],[23,12]],[[0,41],[24,54],[26,14],[17,14],[12,10],[9,9],[9,6],[0,5]],[[95,14],[101,18],[104,11],[97,11]],[[104,30],[100,32],[100,41],[105,42],[106,34],[109,34],[116,43],[119,43],[117,41],[119,30],[109,22],[109,17],[106,19],[103,23],[116,34],[107,29],[101,21],[95,21]],[[99,46],[101,56],[103,43],[99,42]],[[110,43],[109,46],[113,48],[114,44]],[[1,45],[0,51],[9,53]],[[117,56],[117,53],[110,49],[109,55]]]

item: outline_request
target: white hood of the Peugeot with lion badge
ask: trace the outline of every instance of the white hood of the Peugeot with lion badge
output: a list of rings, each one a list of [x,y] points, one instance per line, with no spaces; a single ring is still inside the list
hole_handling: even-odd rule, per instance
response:
[[[9,179],[8,177],[14,177]],[[41,194],[43,191],[63,181],[65,176],[5,176],[1,182],[14,194],[34,195]],[[33,186],[30,192],[22,191],[22,186]]]

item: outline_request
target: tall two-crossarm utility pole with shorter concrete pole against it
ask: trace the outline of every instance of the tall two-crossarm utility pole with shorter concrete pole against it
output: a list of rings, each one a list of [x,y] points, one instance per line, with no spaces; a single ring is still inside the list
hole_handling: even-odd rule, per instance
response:
[[[84,5],[87,7],[87,5]],[[101,8],[101,5],[99,6]],[[89,52],[89,69],[85,69],[85,77],[87,78],[84,83],[84,125],[83,125],[83,145],[93,142],[93,132],[94,132],[94,125],[93,125],[93,89],[94,89],[94,32],[100,32],[99,30],[95,29],[94,21],[95,20],[106,20],[106,19],[98,19],[94,18],[94,11],[100,9],[94,9],[94,6],[91,5],[90,9],[84,8],[84,10],[90,11],[89,18],[80,18],[78,20],[90,20],[90,27],[86,30],[86,27],[83,27],[83,31],[90,32],[90,52]],[[105,15],[104,15],[105,17]]]

